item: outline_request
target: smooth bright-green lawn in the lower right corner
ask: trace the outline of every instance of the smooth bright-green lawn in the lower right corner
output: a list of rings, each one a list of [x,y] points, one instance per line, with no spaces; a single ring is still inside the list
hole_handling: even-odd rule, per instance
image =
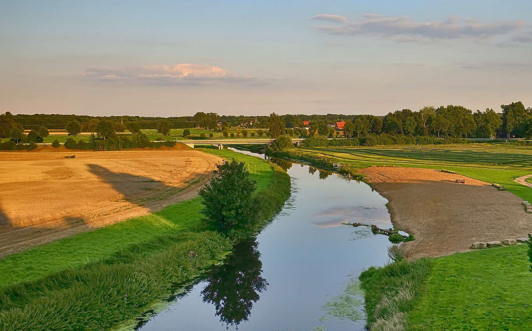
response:
[[[411,330],[532,330],[527,245],[433,260]]]

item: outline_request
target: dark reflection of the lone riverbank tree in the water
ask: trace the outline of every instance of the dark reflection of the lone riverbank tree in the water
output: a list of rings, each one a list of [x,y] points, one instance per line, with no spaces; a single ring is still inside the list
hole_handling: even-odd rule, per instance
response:
[[[261,276],[258,245],[255,239],[238,243],[227,263],[212,269],[201,292],[203,301],[214,304],[216,316],[228,327],[248,320],[253,303],[269,285]]]

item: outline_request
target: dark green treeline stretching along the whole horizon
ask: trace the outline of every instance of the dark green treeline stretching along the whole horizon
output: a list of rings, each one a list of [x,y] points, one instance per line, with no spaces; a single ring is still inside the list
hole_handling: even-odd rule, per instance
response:
[[[34,140],[39,141],[39,131],[45,134],[45,129],[67,129],[69,134],[80,132],[97,133],[98,137],[109,137],[114,133],[129,130],[140,133],[142,129],[157,129],[159,133],[168,135],[172,128],[194,128],[222,130],[229,127],[246,127],[269,129],[275,131],[284,129],[303,128],[303,121],[309,121],[308,133],[313,135],[330,135],[329,123],[345,121],[343,133],[345,137],[360,137],[381,133],[392,135],[414,136],[450,136],[492,138],[504,135],[507,138],[522,137],[529,139],[532,135],[532,108],[525,107],[522,102],[512,102],[501,105],[501,113],[493,109],[472,112],[460,105],[425,106],[419,111],[410,109],[389,112],[384,116],[375,115],[304,115],[285,114],[270,116],[245,117],[218,115],[217,113],[197,112],[192,117],[138,117],[111,116],[93,117],[89,115],[62,114],[16,114],[10,112],[0,114],[0,137],[18,140],[24,129],[33,129]],[[276,123],[272,123],[272,120]],[[221,122],[221,126],[219,123]],[[278,122],[278,123],[277,123]],[[13,134],[13,128],[14,130]],[[19,133],[20,131],[20,133]],[[16,137],[14,137],[16,136]],[[272,137],[276,136],[273,133]]]

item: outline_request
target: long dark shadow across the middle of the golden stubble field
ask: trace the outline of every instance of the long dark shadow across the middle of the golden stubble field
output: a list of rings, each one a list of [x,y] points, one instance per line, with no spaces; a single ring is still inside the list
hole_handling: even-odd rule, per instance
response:
[[[87,167],[90,172],[101,178],[104,183],[111,184],[115,191],[123,194],[128,201],[136,204],[141,202],[134,201],[136,198],[142,197],[142,202],[144,202],[145,198],[149,200],[150,196],[160,195],[162,191],[176,189],[151,177],[136,176],[126,172],[112,172],[97,164],[87,164]],[[139,183],[143,184],[139,185]]]

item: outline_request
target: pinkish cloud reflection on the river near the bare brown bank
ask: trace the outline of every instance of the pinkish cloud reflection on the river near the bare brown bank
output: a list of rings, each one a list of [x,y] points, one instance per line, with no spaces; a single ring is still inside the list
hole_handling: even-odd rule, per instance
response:
[[[342,223],[353,222],[375,224],[377,226],[388,226],[390,224],[389,214],[386,209],[364,206],[331,207],[316,213],[314,217],[321,218],[321,220],[316,220],[312,224],[321,228],[336,227],[342,225]]]

